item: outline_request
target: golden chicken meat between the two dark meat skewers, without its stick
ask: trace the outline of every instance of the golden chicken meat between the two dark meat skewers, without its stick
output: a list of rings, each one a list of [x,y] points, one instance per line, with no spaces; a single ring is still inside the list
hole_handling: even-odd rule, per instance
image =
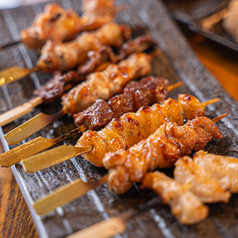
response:
[[[149,74],[150,70],[149,55],[132,54],[119,64],[110,64],[104,71],[88,75],[86,81],[62,98],[62,104],[68,114],[73,115],[91,106],[98,98],[108,100],[121,93],[127,82]]]

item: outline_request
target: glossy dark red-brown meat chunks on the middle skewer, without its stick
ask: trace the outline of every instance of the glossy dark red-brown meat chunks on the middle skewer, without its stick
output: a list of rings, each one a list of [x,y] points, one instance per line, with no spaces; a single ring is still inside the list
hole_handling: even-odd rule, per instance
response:
[[[113,118],[125,113],[136,112],[142,106],[163,102],[167,97],[168,80],[165,78],[147,77],[130,81],[123,89],[123,94],[112,97],[108,102],[97,99],[83,112],[74,115],[76,126],[86,124],[94,130],[106,126]]]

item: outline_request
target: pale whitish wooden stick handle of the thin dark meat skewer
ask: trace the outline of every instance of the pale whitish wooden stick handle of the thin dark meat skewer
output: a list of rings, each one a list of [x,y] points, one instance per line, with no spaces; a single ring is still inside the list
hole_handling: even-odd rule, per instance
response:
[[[21,106],[15,107],[12,110],[3,113],[0,115],[0,126],[5,126],[19,117],[26,115],[41,103],[41,97],[36,97],[22,104]]]

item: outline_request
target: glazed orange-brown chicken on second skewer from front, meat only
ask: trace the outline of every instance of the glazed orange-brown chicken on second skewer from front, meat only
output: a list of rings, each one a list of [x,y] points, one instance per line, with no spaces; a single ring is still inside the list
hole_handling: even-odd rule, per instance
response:
[[[138,135],[134,131],[133,135]],[[206,117],[197,117],[183,126],[165,122],[154,134],[129,150],[109,152],[102,162],[109,170],[109,189],[125,193],[133,183],[142,182],[148,171],[169,168],[182,156],[203,149],[212,139],[222,137],[216,124]]]

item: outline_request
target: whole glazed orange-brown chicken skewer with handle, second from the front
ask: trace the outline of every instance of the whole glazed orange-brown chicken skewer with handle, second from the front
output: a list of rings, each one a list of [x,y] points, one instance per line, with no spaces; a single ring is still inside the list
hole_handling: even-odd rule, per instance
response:
[[[171,167],[181,156],[203,149],[212,138],[220,139],[222,135],[215,123],[226,115],[214,118],[213,121],[206,117],[197,117],[183,126],[166,122],[154,134],[128,151],[121,149],[107,153],[103,164],[109,169],[109,173],[97,183],[106,181],[109,190],[118,194],[126,192],[133,183],[142,182],[147,172],[158,167]],[[85,183],[77,179],[38,199],[33,207],[39,215],[47,214],[58,206],[75,200],[78,195],[96,188],[95,183]]]

